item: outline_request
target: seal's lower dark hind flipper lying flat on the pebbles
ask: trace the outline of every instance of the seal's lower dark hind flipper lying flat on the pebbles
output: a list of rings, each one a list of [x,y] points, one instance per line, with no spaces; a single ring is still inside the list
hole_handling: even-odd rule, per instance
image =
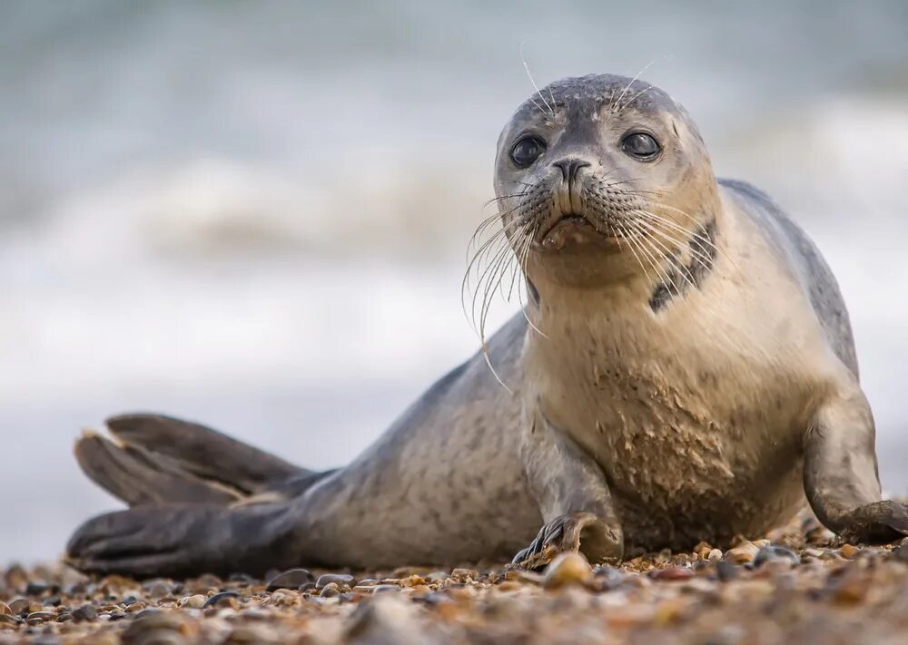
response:
[[[262,575],[301,562],[290,506],[138,506],[84,523],[66,562],[86,573],[183,578],[211,572]]]

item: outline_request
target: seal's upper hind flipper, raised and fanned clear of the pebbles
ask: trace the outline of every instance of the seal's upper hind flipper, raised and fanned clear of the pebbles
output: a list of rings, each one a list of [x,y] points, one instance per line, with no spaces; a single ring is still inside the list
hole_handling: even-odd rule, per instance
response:
[[[163,415],[108,419],[113,439],[85,433],[75,445],[82,470],[131,506],[242,502],[310,484],[312,473],[203,425]]]

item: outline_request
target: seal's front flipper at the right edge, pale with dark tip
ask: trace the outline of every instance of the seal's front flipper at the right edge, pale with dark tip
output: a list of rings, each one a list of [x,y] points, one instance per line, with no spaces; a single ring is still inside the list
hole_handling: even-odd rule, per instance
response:
[[[804,492],[820,522],[854,542],[908,534],[908,508],[881,501],[873,415],[855,387],[814,414],[804,439]]]

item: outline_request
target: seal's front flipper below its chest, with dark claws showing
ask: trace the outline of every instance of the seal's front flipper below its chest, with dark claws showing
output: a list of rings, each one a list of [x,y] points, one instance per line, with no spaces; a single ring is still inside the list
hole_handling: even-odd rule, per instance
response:
[[[536,413],[521,439],[520,459],[545,525],[513,562],[537,569],[565,551],[582,552],[590,562],[622,558],[621,523],[592,457]]]

